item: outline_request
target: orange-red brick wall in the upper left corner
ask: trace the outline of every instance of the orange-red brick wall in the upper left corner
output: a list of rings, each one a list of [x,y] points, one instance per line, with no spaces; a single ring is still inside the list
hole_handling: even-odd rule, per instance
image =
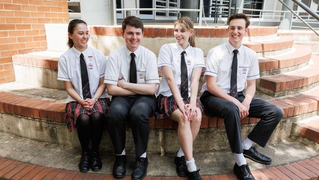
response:
[[[0,0],[0,83],[15,81],[12,55],[47,49],[44,24],[68,22],[67,0]]]

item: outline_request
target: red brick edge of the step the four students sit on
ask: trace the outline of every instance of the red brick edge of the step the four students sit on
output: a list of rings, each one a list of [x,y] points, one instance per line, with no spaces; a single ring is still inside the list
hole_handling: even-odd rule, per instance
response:
[[[284,118],[290,118],[319,110],[319,91],[297,95],[284,99],[269,101],[283,108]],[[65,103],[52,102],[40,99],[32,99],[10,93],[0,92],[0,111],[12,115],[20,115],[28,118],[63,122],[65,115]],[[258,118],[244,118],[241,124],[256,123]],[[156,120],[150,118],[150,128],[176,129],[178,123],[168,118]],[[129,127],[130,124],[128,123]],[[209,117],[205,113],[202,116],[201,128],[224,127],[224,120],[217,117]]]

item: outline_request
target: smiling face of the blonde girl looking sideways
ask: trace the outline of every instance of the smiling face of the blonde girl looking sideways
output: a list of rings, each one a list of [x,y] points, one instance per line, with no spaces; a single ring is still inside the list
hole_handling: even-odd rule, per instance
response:
[[[193,32],[190,30],[184,29],[181,24],[176,24],[174,27],[174,37],[176,39],[176,42],[183,48],[186,49],[188,46],[188,40]]]

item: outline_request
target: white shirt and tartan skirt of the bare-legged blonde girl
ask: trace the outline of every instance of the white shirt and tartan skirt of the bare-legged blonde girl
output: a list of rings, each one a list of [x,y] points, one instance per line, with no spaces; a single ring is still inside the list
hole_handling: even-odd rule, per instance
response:
[[[185,53],[183,53],[185,51]],[[187,83],[188,83],[188,98],[184,98],[185,104],[189,104],[190,99],[190,85],[192,71],[196,67],[203,67],[205,69],[205,61],[203,51],[199,48],[188,47],[183,48],[178,43],[164,44],[160,48],[160,54],[158,59],[158,69],[161,71],[162,66],[169,66],[173,70],[174,79],[177,87],[181,91],[181,57],[184,54],[186,66],[187,66]],[[179,109],[177,103],[173,97],[171,90],[169,89],[165,75],[162,73],[162,80],[158,90],[158,112],[156,113],[157,119],[163,119],[169,117],[175,110]],[[196,106],[202,110],[200,102],[196,101]]]

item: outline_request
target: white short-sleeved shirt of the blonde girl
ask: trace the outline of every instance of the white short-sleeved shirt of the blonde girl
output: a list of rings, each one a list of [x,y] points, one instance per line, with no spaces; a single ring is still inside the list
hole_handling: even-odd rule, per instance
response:
[[[205,70],[204,53],[201,49],[188,45],[188,47],[185,50],[183,50],[183,48],[178,43],[164,44],[160,48],[158,68],[159,70],[161,70],[162,66],[171,67],[173,70],[174,79],[176,81],[177,87],[181,90],[181,54],[183,51],[186,52],[184,57],[187,65],[188,97],[190,97],[190,80],[193,68],[203,67],[203,71]],[[157,94],[162,94],[164,96],[172,95],[172,92],[169,89],[165,75],[163,73]]]

